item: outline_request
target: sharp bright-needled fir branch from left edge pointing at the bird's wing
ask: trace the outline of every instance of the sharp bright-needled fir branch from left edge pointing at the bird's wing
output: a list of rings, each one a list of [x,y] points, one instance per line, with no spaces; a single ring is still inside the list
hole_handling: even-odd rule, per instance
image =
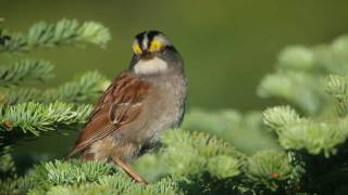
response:
[[[71,128],[86,121],[91,106],[61,102],[42,105],[23,103],[0,106],[0,143],[8,145],[24,134],[40,135],[47,131]]]

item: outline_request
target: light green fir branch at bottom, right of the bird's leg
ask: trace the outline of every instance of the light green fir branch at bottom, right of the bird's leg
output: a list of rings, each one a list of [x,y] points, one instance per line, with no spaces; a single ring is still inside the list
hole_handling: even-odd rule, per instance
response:
[[[152,174],[160,170],[159,176],[170,173],[197,185],[203,181],[201,184],[211,192],[214,187],[210,182],[223,184],[228,192],[249,192],[257,187],[277,191],[303,173],[302,166],[295,165],[284,152],[271,150],[247,157],[206,133],[172,130],[164,133],[162,141],[164,148],[160,153],[137,160],[136,167],[144,176],[149,176],[149,169]]]

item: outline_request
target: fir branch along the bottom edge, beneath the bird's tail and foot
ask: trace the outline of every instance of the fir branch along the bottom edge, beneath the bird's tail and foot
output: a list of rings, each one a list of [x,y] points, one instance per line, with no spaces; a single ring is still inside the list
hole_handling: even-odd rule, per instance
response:
[[[111,165],[99,161],[49,161],[36,167],[27,179],[40,184],[29,194],[177,194],[177,181],[170,178],[138,185]]]

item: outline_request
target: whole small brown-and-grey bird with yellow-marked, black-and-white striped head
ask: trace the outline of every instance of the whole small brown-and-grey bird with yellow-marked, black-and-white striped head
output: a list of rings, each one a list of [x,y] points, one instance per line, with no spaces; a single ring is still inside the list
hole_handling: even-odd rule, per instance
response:
[[[114,162],[139,183],[127,165],[156,146],[161,132],[179,127],[187,96],[181,54],[158,30],[138,34],[128,69],[105,90],[69,157]]]

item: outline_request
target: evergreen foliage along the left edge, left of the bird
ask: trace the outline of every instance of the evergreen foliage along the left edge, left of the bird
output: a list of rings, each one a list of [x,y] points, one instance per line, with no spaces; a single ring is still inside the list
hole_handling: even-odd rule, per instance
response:
[[[109,40],[108,28],[99,23],[80,25],[76,20],[62,20],[55,24],[40,22],[25,34],[1,28],[0,54],[69,44],[104,47]],[[91,112],[92,107],[87,103],[95,101],[109,84],[99,73],[89,72],[58,88],[32,87],[52,78],[52,69],[50,62],[23,56],[0,67],[0,194],[34,192],[34,186],[40,186],[39,182],[45,180],[40,178],[45,174],[44,169],[39,168],[25,177],[18,176],[12,156],[15,144],[53,131],[78,129]]]

